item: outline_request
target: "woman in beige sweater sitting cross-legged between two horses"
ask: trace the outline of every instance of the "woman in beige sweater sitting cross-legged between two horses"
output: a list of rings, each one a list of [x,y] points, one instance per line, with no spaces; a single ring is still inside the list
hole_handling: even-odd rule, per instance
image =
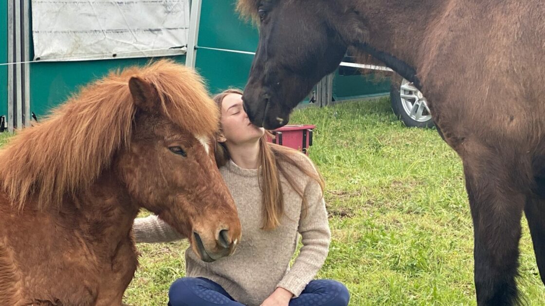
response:
[[[323,180],[299,151],[270,144],[250,123],[239,90],[214,97],[221,109],[216,161],[237,205],[243,235],[234,254],[215,262],[185,252],[186,277],[172,284],[170,306],[346,306],[335,280],[312,280],[328,255],[330,230]],[[181,237],[156,216],[138,218],[136,242]],[[298,241],[299,255],[289,268]]]

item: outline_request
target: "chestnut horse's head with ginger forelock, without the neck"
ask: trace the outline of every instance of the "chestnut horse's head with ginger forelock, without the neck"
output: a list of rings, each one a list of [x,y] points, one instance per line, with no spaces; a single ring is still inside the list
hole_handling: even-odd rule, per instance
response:
[[[117,169],[135,203],[214,261],[234,251],[237,209],[214,160],[219,112],[190,69],[159,62],[130,77],[134,126]]]

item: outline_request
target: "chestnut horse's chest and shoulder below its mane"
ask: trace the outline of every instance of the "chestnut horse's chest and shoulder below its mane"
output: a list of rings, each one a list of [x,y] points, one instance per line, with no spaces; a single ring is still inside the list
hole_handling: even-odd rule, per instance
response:
[[[0,228],[0,248],[15,254],[10,265],[19,281],[11,290],[24,297],[14,305],[121,304],[137,266],[131,228],[138,206],[119,182],[99,181],[59,210],[17,213],[2,202],[0,224],[17,224]]]

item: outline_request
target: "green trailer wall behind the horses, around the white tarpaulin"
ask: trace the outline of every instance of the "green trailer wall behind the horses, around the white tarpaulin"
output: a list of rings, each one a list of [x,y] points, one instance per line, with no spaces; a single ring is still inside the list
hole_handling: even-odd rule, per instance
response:
[[[31,0],[23,0],[3,2],[0,7],[0,44],[4,44],[0,46],[0,116],[5,117],[9,130],[40,120],[78,87],[108,71],[150,60],[113,56],[100,60],[35,60],[31,4]],[[169,58],[195,68],[211,93],[244,88],[257,47],[257,29],[239,19],[235,0],[191,0],[190,4],[187,53]],[[28,63],[10,64],[17,62]],[[306,102],[312,99],[320,102],[316,105],[325,105],[331,100],[361,99],[390,91],[389,79],[376,82],[372,75],[336,71],[325,81],[314,91],[315,99],[309,96]]]

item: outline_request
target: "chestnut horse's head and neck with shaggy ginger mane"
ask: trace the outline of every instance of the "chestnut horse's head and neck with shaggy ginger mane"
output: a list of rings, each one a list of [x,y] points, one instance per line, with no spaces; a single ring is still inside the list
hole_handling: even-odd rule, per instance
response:
[[[9,167],[0,167],[0,191],[19,210],[46,210],[79,203],[67,199],[94,193],[107,175],[132,205],[127,215],[145,207],[187,236],[201,259],[219,259],[233,253],[241,231],[212,151],[219,117],[184,65],[159,60],[112,72],[3,146]]]

